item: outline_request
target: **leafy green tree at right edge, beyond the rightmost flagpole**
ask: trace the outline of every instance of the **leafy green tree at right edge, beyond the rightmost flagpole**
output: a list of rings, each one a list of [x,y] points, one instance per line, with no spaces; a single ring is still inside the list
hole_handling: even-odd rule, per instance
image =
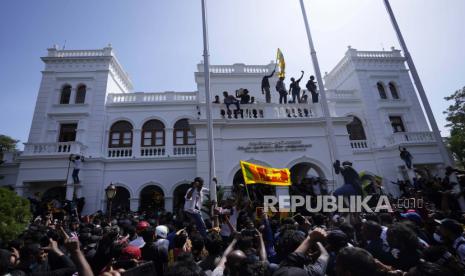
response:
[[[465,166],[465,87],[444,98],[452,101],[444,114],[447,114],[446,127],[450,127],[450,137],[446,142],[454,158]]]

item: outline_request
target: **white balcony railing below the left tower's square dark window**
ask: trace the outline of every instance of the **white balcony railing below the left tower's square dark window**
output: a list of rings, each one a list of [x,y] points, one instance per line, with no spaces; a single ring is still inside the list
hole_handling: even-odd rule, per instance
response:
[[[80,154],[83,145],[79,142],[26,143],[23,156]]]

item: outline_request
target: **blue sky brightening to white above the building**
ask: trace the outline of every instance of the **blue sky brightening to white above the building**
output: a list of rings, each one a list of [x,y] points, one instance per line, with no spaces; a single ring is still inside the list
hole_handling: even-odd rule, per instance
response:
[[[212,64],[266,64],[276,48],[288,75],[312,72],[298,0],[207,0]],[[347,46],[399,48],[382,0],[305,0],[322,72]],[[391,0],[443,135],[443,97],[465,86],[463,0]],[[113,45],[135,90],[194,91],[202,59],[200,0],[2,0],[0,133],[27,141],[41,56]]]

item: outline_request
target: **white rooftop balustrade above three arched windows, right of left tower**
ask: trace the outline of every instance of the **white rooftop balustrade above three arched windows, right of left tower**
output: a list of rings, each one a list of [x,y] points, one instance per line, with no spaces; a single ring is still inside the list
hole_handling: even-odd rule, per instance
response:
[[[124,93],[108,94],[107,104],[157,104],[170,102],[197,102],[197,92]]]

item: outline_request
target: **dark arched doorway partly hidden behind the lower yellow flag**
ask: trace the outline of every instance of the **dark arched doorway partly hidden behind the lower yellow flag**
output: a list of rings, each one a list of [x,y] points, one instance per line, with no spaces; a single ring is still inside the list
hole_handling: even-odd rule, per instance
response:
[[[248,199],[256,202],[259,205],[263,203],[263,196],[265,195],[276,195],[275,186],[271,185],[245,185],[244,176],[242,170],[237,170],[233,178],[233,193],[236,197]]]

